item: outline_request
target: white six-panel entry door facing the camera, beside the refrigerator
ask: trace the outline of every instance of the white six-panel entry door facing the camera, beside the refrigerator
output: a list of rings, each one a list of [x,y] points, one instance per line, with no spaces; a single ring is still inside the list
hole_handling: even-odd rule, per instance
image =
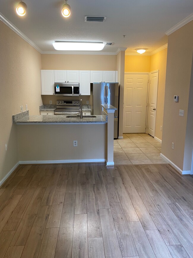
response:
[[[145,133],[148,74],[125,74],[123,132]]]

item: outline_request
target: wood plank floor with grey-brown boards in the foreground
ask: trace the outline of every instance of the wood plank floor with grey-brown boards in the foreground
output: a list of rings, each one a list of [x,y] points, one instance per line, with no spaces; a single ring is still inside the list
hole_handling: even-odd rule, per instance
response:
[[[170,165],[19,165],[0,258],[193,258],[193,176]]]

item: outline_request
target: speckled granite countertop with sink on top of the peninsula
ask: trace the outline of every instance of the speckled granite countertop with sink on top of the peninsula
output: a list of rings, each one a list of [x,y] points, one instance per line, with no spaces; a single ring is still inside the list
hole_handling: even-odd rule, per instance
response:
[[[12,116],[13,123],[107,123],[106,115],[96,115],[96,118],[67,118],[66,115],[29,115],[28,111],[20,112]]]

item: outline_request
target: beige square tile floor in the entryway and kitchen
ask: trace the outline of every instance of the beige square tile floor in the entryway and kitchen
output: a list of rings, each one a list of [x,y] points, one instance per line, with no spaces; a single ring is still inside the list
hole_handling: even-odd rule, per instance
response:
[[[148,134],[123,134],[114,140],[115,165],[165,164],[160,157],[162,143]]]

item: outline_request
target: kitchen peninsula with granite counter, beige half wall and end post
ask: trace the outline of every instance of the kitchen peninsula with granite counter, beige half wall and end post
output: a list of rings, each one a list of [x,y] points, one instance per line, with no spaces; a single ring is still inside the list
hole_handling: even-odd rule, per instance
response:
[[[29,111],[13,115],[20,164],[106,162],[106,165],[114,165],[116,108],[105,105],[103,109],[107,115],[82,119],[65,115],[29,115]]]

